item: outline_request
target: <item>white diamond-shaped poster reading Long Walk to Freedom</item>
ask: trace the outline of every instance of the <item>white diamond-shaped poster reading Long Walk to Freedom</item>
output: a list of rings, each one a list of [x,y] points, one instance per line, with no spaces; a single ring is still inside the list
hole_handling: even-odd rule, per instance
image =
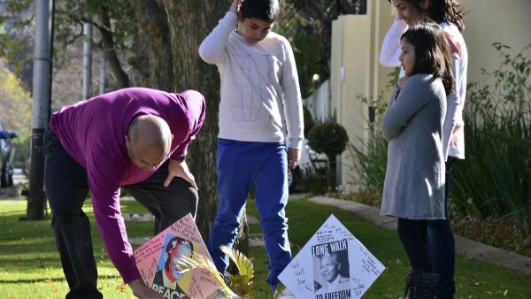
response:
[[[385,270],[331,215],[279,275],[297,298],[361,298]]]

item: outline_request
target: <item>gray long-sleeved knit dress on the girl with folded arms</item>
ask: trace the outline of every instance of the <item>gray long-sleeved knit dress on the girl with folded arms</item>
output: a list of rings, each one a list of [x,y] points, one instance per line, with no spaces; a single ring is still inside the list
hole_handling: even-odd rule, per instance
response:
[[[381,121],[389,140],[381,214],[444,219],[445,113],[443,82],[432,75],[413,75],[391,95]]]

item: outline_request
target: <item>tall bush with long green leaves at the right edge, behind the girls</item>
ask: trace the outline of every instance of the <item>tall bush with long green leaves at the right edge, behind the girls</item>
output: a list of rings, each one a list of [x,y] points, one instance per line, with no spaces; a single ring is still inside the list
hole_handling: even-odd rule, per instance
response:
[[[465,111],[466,160],[452,173],[451,187],[460,214],[472,202],[481,219],[512,218],[531,234],[531,59],[506,54],[509,47],[493,44],[503,58],[485,80],[473,83]]]

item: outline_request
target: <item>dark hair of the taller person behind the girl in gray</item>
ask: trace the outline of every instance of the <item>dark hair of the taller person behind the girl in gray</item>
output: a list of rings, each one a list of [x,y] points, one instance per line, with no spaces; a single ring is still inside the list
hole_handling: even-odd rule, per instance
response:
[[[391,2],[391,0],[388,0]],[[423,11],[420,7],[422,0],[408,0],[417,9]],[[465,23],[463,22],[463,11],[461,4],[457,0],[429,0],[428,15],[430,19],[437,23],[447,22],[458,27],[459,32],[465,30]]]

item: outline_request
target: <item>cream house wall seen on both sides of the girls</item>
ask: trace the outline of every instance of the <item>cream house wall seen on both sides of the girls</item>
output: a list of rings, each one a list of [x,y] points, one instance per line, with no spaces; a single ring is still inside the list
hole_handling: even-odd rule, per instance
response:
[[[512,47],[518,53],[531,43],[531,0],[462,0],[469,52],[468,82],[482,81],[481,68],[496,70],[501,63],[493,42]],[[330,74],[330,111],[347,129],[351,143],[369,136],[368,105],[381,96],[387,103],[389,75],[395,69],[378,63],[383,37],[396,19],[391,4],[367,1],[366,15],[343,15],[333,23]],[[503,26],[502,26],[503,24]],[[362,99],[365,99],[362,100]],[[356,184],[348,151],[338,158],[338,183]]]

